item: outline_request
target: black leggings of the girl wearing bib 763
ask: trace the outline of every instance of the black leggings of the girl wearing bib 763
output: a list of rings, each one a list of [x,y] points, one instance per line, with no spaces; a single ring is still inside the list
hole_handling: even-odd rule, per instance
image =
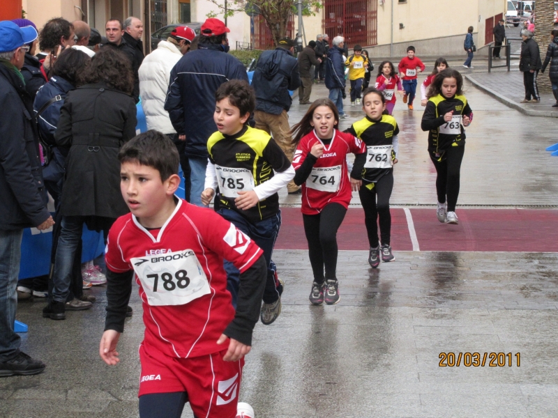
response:
[[[430,154],[430,160],[438,174],[436,178],[438,201],[445,203],[446,196],[448,197],[448,212],[455,212],[455,205],[458,203],[459,177],[464,153],[465,146],[451,146],[445,153],[444,161],[438,161]]]

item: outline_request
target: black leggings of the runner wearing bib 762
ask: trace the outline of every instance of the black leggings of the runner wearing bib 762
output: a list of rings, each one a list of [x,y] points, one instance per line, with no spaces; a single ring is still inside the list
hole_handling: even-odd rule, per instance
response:
[[[370,247],[376,248],[378,240],[378,217],[379,231],[382,245],[389,245],[391,240],[391,212],[389,212],[389,198],[393,190],[393,171],[380,178],[374,183],[372,190],[363,184],[359,190],[361,204],[364,209],[364,224],[368,233]],[[376,202],[376,196],[378,201]]]

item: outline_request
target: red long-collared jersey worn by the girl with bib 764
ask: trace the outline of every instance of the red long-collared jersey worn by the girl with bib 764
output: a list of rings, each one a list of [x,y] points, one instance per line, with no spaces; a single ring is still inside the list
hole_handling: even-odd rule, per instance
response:
[[[317,137],[315,130],[302,137],[292,160],[295,170],[301,167],[316,142],[322,141]],[[352,134],[333,130],[331,143],[329,146],[324,145],[322,157],[319,157],[312,173],[301,185],[301,211],[304,215],[317,215],[328,203],[340,203],[345,208],[349,207],[352,191],[347,170],[347,154],[365,152],[366,146],[363,141]]]

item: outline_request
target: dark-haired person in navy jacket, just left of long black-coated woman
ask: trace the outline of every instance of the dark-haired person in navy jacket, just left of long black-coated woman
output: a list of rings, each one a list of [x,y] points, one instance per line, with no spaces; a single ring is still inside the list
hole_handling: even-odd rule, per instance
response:
[[[54,265],[54,257],[56,255],[56,245],[58,244],[58,237],[60,233],[60,198],[62,193],[62,186],[64,183],[64,171],[66,167],[66,157],[68,155],[68,147],[58,147],[54,142],[54,132],[60,118],[60,109],[64,104],[68,91],[75,88],[77,84],[77,75],[83,72],[87,65],[91,63],[91,59],[87,54],[84,54],[77,49],[65,49],[59,56],[56,63],[52,68],[52,77],[50,81],[45,84],[37,93],[33,110],[35,114],[40,112],[38,117],[38,128],[43,140],[51,146],[52,158],[50,163],[43,167],[43,178],[48,192],[54,199],[54,208],[56,215],[54,215],[54,229],[52,231],[52,250],[51,250],[51,263]],[[41,111],[42,110],[42,111]],[[91,287],[89,281],[82,280],[81,269],[82,247],[81,242],[77,248],[72,286],[70,287],[70,297],[80,300],[93,302],[93,296],[84,296],[83,288]],[[96,272],[96,270],[95,270]],[[100,274],[94,274],[94,277],[89,274],[88,279],[95,281],[96,277]],[[33,283],[33,294],[38,296],[46,296],[46,291],[39,291],[35,287],[40,287],[40,284]],[[44,286],[46,289],[47,286]],[[37,293],[36,293],[37,291]]]

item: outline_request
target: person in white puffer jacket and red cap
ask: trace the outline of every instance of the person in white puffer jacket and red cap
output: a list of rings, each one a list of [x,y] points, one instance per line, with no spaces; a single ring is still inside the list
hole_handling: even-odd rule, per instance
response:
[[[190,165],[185,153],[186,136],[178,137],[172,127],[169,113],[165,110],[165,99],[169,87],[170,71],[181,57],[190,50],[196,34],[188,26],[177,26],[167,40],[162,40],[140,66],[140,97],[147,129],[158,130],[167,135],[179,151],[184,183],[184,199],[190,201]]]

